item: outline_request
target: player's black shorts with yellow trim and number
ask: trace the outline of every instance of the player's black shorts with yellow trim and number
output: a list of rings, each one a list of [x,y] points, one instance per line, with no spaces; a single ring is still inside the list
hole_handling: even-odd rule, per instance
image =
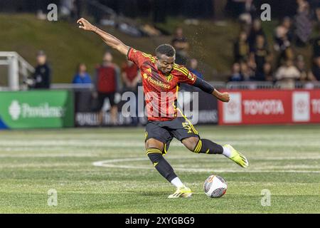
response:
[[[146,124],[144,142],[150,138],[164,142],[164,150],[162,153],[166,154],[173,138],[181,141],[189,137],[200,138],[198,131],[193,127],[190,120],[185,117],[178,117],[168,121],[149,121]]]

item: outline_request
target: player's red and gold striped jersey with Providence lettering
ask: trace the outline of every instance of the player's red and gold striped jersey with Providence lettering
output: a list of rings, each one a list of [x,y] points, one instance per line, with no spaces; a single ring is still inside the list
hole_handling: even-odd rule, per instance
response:
[[[156,68],[154,56],[134,48],[129,49],[127,57],[129,61],[136,63],[141,71],[148,120],[166,121],[176,118],[178,83],[193,85],[196,75],[176,63],[174,69],[164,75]]]

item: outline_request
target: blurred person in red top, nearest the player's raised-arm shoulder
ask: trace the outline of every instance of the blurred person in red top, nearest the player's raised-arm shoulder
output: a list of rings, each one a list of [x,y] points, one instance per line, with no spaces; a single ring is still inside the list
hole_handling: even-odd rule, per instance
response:
[[[137,83],[139,81],[139,68],[132,61],[122,64],[122,81],[124,82],[124,90],[137,92]]]

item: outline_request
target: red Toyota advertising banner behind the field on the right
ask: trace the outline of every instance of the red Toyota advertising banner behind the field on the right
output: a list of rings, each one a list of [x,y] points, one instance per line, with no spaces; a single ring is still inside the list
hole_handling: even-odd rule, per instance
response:
[[[320,90],[232,90],[220,125],[320,123]]]

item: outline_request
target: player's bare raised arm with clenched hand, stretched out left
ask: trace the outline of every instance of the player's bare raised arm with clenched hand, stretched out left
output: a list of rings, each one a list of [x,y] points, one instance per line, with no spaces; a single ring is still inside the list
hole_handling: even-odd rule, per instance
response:
[[[108,46],[118,50],[120,53],[127,56],[129,46],[122,43],[122,41],[119,41],[118,38],[115,38],[109,33],[106,33],[105,31],[102,31],[100,28],[97,28],[96,26],[90,24],[90,22],[86,19],[79,19],[77,23],[80,24],[79,28],[82,28],[85,31],[93,31],[94,33],[97,33],[97,35],[99,35],[102,38],[102,40],[105,41],[105,43],[107,43]]]

